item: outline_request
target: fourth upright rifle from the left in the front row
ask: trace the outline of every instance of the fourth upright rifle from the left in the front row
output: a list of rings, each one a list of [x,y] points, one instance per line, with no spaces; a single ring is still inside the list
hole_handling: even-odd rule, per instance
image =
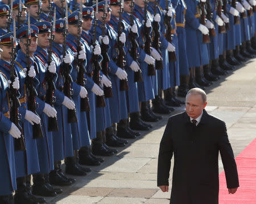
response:
[[[67,55],[67,35],[68,35],[68,5],[67,2],[65,3],[65,23],[64,23],[64,32],[63,32],[63,58]],[[72,77],[70,75],[71,72],[71,65],[65,63],[63,61],[62,65],[62,73],[63,73],[63,81],[64,81],[64,86],[63,86],[63,93],[66,97],[72,100],[71,97],[71,84],[73,82]],[[77,122],[77,115],[76,115],[76,109],[68,109],[68,123],[76,123]]]

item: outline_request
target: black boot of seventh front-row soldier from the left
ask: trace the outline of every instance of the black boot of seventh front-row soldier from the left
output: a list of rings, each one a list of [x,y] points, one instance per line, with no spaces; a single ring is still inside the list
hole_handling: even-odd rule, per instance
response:
[[[114,155],[114,152],[105,147],[102,132],[97,132],[97,138],[92,140],[92,153],[97,156]]]

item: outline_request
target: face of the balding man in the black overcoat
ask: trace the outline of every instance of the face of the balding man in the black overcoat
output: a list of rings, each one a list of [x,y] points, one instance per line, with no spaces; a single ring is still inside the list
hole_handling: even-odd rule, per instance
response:
[[[196,119],[201,115],[206,105],[207,102],[203,102],[202,96],[200,94],[190,93],[186,97],[186,111],[188,116],[193,119]]]

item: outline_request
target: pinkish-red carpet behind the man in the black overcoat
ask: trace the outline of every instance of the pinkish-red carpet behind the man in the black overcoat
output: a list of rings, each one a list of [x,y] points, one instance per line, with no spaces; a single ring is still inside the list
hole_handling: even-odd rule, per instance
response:
[[[229,194],[225,173],[221,172],[219,204],[256,204],[256,139],[236,157],[236,162],[240,187]]]

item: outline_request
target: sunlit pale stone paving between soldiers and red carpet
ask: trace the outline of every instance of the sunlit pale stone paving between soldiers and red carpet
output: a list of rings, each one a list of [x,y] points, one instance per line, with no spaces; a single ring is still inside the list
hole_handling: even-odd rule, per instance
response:
[[[255,138],[255,87],[256,59],[206,90],[207,110],[225,120],[235,156]],[[182,110],[184,107],[176,113]],[[127,147],[118,148],[117,155],[105,158],[105,163],[93,167],[88,176],[76,177],[76,184],[64,188],[58,197],[48,198],[48,203],[169,203],[170,193],[162,193],[156,186],[158,149],[167,118],[168,115],[154,123],[151,132],[143,132],[143,136],[131,140]]]

